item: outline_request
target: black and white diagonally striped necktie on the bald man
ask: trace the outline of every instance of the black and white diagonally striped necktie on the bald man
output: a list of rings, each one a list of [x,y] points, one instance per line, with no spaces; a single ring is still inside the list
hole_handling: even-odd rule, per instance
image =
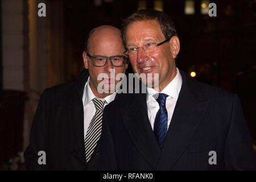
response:
[[[94,148],[97,145],[98,140],[101,137],[101,127],[102,127],[102,114],[104,104],[107,102],[104,100],[100,100],[98,98],[94,98],[93,104],[96,108],[96,113],[94,114],[92,120],[90,121],[88,130],[85,135],[85,156],[86,162],[89,162],[90,157],[93,154]]]

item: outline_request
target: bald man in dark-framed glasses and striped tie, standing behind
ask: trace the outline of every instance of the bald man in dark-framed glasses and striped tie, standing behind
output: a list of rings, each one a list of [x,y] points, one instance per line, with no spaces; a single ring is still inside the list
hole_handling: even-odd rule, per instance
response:
[[[102,111],[115,99],[118,83],[110,73],[127,69],[123,51],[118,28],[90,31],[77,81],[47,88],[40,98],[24,153],[27,169],[96,170]]]

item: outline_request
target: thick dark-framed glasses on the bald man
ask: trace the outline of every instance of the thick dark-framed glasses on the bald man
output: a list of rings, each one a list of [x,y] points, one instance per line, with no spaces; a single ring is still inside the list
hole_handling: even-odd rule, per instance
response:
[[[114,67],[123,67],[127,63],[128,57],[126,56],[100,56],[100,55],[94,55],[91,56],[89,53],[86,53],[86,55],[92,60],[92,64],[94,67],[104,67],[108,60],[110,60],[111,64]]]

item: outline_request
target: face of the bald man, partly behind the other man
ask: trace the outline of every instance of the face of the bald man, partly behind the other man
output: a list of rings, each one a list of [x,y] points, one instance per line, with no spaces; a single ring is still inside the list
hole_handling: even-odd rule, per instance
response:
[[[123,55],[123,51],[125,51],[125,47],[123,46],[123,41],[121,37],[121,32],[115,28],[99,28],[96,30],[89,41],[89,51],[88,53],[91,56],[100,55],[100,56],[117,56]],[[93,93],[97,94],[97,86],[100,82],[104,81],[105,84],[109,84],[109,94],[110,94],[110,82],[114,82],[115,85],[119,82],[119,80],[110,80],[110,73],[115,72],[115,75],[118,73],[125,73],[127,68],[127,64],[123,67],[114,67],[110,60],[107,61],[104,67],[94,67],[92,64],[92,60],[89,59],[88,56],[84,56],[85,68],[89,69],[90,75],[90,88]],[[97,77],[100,73],[105,73],[108,75],[106,78],[102,78],[98,80]],[[114,78],[115,79],[115,78]],[[105,90],[105,88],[104,88]],[[104,96],[109,95],[104,94]],[[100,96],[99,96],[100,97]]]

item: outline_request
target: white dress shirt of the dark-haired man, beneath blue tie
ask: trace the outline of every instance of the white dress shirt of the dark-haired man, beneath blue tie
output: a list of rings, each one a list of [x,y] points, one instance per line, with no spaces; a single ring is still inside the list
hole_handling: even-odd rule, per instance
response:
[[[160,92],[168,95],[168,97],[166,98],[166,110],[168,113],[168,126],[167,126],[168,128],[171,123],[172,114],[174,114],[174,108],[177,102],[177,98],[179,97],[181,85],[182,85],[182,77],[180,75],[179,69],[177,69],[177,73],[174,79],[162,90],[162,92]],[[156,113],[159,110],[159,104],[154,98],[156,93],[158,93],[156,92],[156,90],[147,87],[147,113],[148,113],[148,119],[150,121],[152,130],[154,130],[155,117],[156,117]]]

